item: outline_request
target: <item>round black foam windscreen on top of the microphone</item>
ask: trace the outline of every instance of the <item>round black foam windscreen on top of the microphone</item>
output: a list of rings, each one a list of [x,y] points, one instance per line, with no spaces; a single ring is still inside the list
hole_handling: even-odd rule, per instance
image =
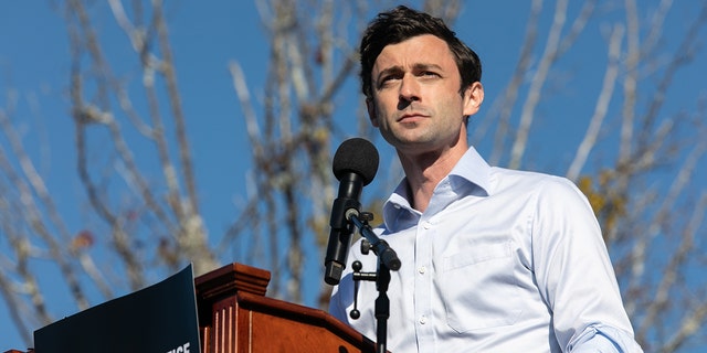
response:
[[[355,173],[361,175],[363,184],[368,185],[378,172],[378,150],[366,139],[348,139],[334,153],[331,170],[337,180]]]

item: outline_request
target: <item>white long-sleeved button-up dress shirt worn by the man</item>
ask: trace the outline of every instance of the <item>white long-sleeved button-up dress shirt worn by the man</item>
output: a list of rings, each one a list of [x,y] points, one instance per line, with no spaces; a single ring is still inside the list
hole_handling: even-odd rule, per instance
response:
[[[435,188],[425,212],[403,180],[374,233],[398,253],[391,271],[393,352],[641,352],[594,214],[568,180],[489,167],[474,148]],[[351,246],[330,312],[376,339],[376,284],[361,281],[358,320]]]

